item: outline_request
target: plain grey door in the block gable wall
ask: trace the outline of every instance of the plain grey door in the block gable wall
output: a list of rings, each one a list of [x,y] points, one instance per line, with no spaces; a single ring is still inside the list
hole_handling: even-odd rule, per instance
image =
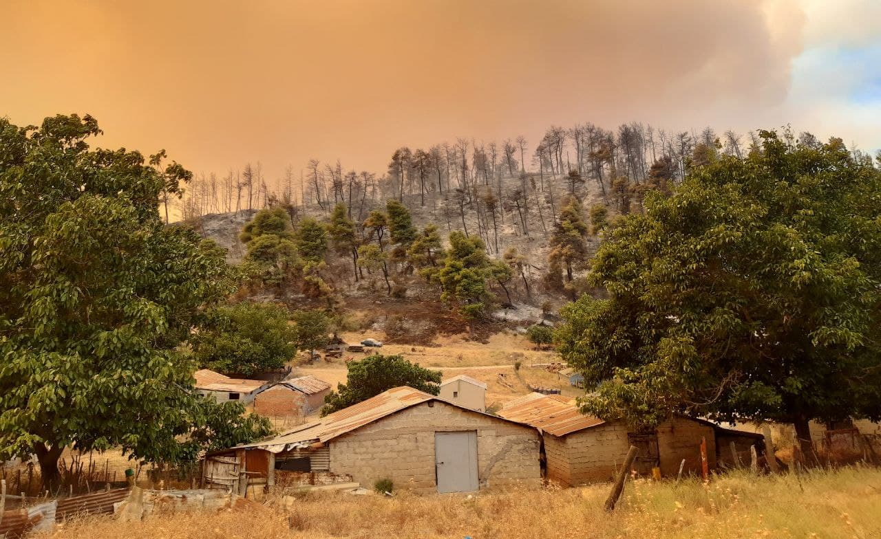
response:
[[[478,490],[478,432],[435,432],[438,492]]]

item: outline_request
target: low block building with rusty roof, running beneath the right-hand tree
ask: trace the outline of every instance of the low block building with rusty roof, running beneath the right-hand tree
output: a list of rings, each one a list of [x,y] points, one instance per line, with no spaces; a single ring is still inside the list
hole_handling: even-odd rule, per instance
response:
[[[675,477],[680,466],[683,473],[699,474],[702,440],[707,443],[709,469],[733,460],[732,441],[738,453],[745,446],[749,454],[751,445],[764,450],[761,434],[723,429],[691,417],[673,417],[652,432],[632,432],[623,422],[582,414],[574,399],[562,395],[531,393],[508,402],[499,415],[541,432],[544,474],[566,486],[608,481],[632,445],[639,449],[633,469],[646,476],[657,467],[662,476]]]

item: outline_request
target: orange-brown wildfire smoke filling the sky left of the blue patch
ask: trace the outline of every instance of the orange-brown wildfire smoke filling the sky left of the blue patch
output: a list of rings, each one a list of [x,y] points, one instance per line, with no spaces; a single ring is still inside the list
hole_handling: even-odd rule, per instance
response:
[[[776,127],[797,0],[3,0],[0,115],[93,114],[103,146],[268,177],[551,124]],[[811,126],[799,126],[811,129]]]

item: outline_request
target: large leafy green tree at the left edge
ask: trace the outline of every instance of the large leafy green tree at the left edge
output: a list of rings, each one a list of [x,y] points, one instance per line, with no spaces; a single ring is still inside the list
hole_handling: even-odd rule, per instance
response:
[[[64,447],[174,461],[268,428],[220,428],[241,406],[196,395],[177,351],[230,290],[222,252],[163,225],[179,186],[137,151],[90,150],[98,134],[90,116],[0,119],[0,459],[36,454],[47,488]]]

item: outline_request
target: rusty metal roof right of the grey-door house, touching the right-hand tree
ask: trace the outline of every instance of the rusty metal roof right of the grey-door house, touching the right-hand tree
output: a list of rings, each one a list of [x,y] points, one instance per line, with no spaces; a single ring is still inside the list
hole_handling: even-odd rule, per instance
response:
[[[499,415],[554,436],[566,436],[605,423],[599,417],[582,414],[572,398],[541,393],[530,393],[508,402],[499,410]]]

